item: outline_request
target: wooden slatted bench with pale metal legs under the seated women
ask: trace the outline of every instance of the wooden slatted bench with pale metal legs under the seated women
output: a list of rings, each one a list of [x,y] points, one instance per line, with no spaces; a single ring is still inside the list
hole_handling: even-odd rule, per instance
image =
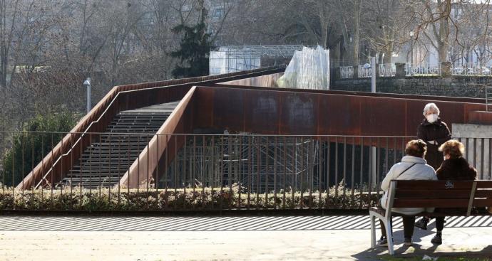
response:
[[[388,200],[384,208],[369,208],[371,218],[371,247],[376,247],[376,224],[379,218],[386,227],[388,250],[394,255],[390,220],[392,208],[439,208],[432,213],[418,213],[416,216],[471,216],[492,215],[484,207],[492,206],[492,181],[405,181],[393,180],[389,185]],[[445,209],[448,208],[448,211]],[[447,213],[450,209],[462,208],[466,211]]]

